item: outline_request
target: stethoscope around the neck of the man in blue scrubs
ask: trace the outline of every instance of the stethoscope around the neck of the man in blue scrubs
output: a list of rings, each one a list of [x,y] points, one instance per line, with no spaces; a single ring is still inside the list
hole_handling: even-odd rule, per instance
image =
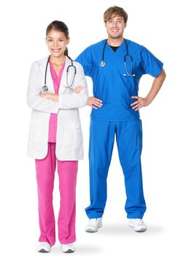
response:
[[[135,74],[132,74],[133,72],[133,58],[132,56],[128,53],[128,43],[126,42],[125,38],[123,38],[124,41],[125,41],[125,47],[126,47],[126,54],[124,56],[124,65],[125,65],[125,72],[123,75],[124,76],[128,76],[128,77],[134,77]],[[106,48],[106,45],[107,45],[107,39],[106,39],[106,42],[104,43],[104,50],[103,50],[103,53],[102,53],[102,59],[101,59],[101,63],[100,63],[100,66],[101,67],[104,67],[105,66],[105,62],[104,62],[104,51],[105,51],[105,48]],[[126,64],[126,59],[129,58],[130,61],[131,61],[131,69],[130,69],[130,72],[128,72],[128,69],[127,69],[127,64]]]

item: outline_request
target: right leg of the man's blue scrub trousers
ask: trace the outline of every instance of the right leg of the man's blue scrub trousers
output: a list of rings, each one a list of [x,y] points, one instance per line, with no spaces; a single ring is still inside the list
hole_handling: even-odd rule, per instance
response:
[[[142,187],[142,121],[117,122],[117,148],[125,177],[127,217],[142,219],[146,211]]]

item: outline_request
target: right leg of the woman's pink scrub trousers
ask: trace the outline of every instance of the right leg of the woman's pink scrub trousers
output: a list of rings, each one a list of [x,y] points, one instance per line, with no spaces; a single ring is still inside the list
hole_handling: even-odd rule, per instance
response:
[[[76,241],[76,181],[78,161],[59,161],[58,176],[61,195],[60,211],[58,214],[58,239],[61,244]]]

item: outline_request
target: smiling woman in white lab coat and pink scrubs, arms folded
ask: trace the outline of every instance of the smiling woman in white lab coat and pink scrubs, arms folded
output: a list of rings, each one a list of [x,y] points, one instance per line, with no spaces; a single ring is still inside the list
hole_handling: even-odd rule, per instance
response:
[[[53,184],[57,162],[61,195],[58,239],[62,252],[74,252],[77,166],[83,159],[78,108],[85,106],[88,88],[82,66],[68,57],[66,24],[58,20],[50,23],[46,42],[50,56],[32,64],[28,82],[28,106],[32,108],[28,156],[36,163],[38,251],[50,252],[55,244]]]

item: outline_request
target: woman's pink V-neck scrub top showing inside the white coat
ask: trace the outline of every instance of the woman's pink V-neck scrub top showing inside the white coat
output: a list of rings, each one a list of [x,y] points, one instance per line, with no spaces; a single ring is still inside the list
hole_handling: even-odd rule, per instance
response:
[[[65,63],[66,62],[64,62],[63,66],[61,67],[59,75],[57,75],[57,73],[55,72],[55,69],[53,68],[53,65],[50,63],[50,72],[53,80],[55,94],[58,94]],[[53,143],[56,142],[57,117],[58,117],[57,114],[53,114],[53,113],[50,114],[48,142],[53,142]]]

